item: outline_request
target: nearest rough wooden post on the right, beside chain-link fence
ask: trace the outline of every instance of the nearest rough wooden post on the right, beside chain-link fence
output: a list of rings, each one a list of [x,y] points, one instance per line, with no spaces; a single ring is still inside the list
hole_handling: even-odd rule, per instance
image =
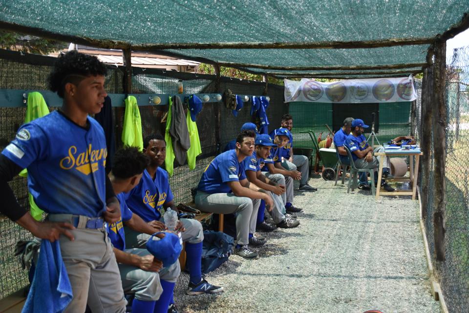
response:
[[[433,73],[433,151],[434,194],[433,228],[437,261],[445,261],[445,215],[446,215],[446,41],[435,43]]]

